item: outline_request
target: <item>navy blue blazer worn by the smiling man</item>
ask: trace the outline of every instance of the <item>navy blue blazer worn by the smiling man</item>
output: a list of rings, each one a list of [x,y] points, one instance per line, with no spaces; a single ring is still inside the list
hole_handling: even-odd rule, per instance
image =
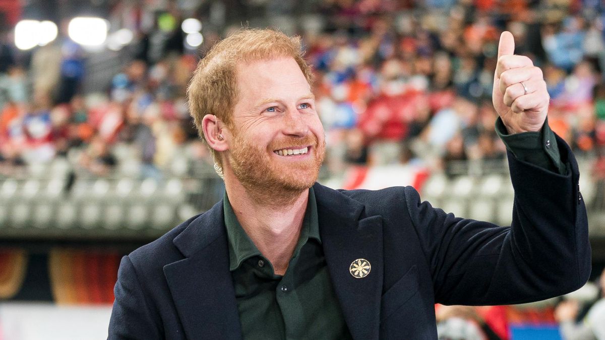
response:
[[[590,275],[578,167],[568,174],[509,154],[512,226],[465,220],[411,188],[335,191],[313,186],[325,260],[355,339],[436,339],[434,304],[537,301]],[[371,272],[355,278],[353,260]],[[223,203],[122,258],[110,339],[240,339]]]

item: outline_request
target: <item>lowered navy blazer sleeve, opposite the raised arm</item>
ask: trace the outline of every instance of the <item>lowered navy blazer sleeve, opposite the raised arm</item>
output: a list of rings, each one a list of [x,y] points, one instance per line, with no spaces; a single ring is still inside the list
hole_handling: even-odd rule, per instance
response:
[[[122,258],[114,287],[108,339],[162,339],[159,326],[150,312],[136,270],[128,256]]]

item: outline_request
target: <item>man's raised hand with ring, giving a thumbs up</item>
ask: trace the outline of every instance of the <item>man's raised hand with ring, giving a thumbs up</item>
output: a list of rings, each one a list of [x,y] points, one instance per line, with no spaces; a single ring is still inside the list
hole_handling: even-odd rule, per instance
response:
[[[509,134],[540,131],[550,96],[542,70],[526,56],[515,56],[512,34],[504,31],[498,44],[492,103]]]

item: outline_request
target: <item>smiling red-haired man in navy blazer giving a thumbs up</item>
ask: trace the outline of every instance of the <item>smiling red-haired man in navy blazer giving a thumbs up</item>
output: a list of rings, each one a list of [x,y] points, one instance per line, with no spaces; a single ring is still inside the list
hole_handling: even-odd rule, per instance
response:
[[[111,339],[434,339],[436,302],[528,302],[586,282],[577,164],[511,33],[493,94],[511,227],[445,214],[413,188],[315,183],[324,131],[299,51],[284,34],[241,30],[200,61],[191,114],[224,200],[122,259]]]

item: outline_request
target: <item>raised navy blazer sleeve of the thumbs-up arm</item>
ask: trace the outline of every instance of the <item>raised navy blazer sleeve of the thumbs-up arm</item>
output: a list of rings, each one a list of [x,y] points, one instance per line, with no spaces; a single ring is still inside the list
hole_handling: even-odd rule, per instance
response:
[[[508,227],[446,214],[406,188],[407,208],[433,279],[435,302],[517,304],[563,295],[590,275],[586,208],[578,166],[557,137],[567,174],[508,153],[515,190]]]

